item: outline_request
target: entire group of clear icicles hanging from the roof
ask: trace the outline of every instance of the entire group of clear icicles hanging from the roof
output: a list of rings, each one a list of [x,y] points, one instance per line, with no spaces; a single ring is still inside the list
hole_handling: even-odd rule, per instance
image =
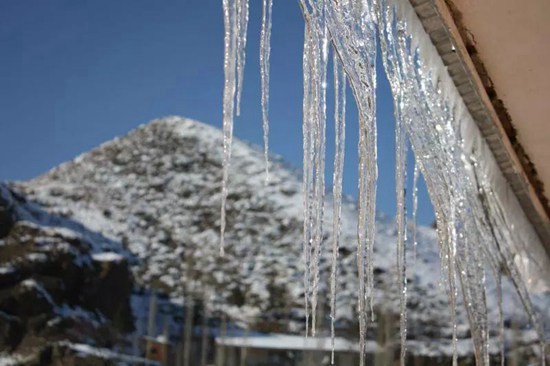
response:
[[[376,52],[380,40],[384,69],[390,81],[396,120],[397,281],[401,295],[401,364],[406,359],[407,338],[407,225],[405,211],[406,156],[415,155],[413,221],[416,218],[416,182],[425,178],[433,203],[444,283],[452,314],[453,365],[457,364],[456,304],[459,285],[469,317],[476,362],[489,364],[489,329],[485,294],[487,266],[500,286],[501,274],[510,276],[524,307],[537,327],[529,295],[514,262],[514,246],[521,238],[510,229],[487,177],[486,147],[464,138],[476,128],[441,58],[423,30],[414,9],[404,0],[299,0],[304,30],[303,190],[304,190],[304,292],[306,336],[315,336],[319,288],[319,260],[323,244],[325,203],[325,127],[327,65],[334,57],[335,159],[333,185],[333,242],[330,278],[330,319],[334,364],[336,275],[342,173],[346,83],[359,111],[359,207],[357,314],[360,331],[360,365],[365,362],[367,325],[373,320],[373,246],[377,182],[376,151]],[[263,0],[260,65],[262,114],[268,174],[269,53],[272,0]],[[224,251],[225,205],[233,119],[239,114],[243,83],[248,0],[223,0],[225,22],[225,88],[223,94],[224,161],[221,211],[221,245]],[[236,105],[236,107],[235,107]],[[236,113],[235,113],[236,111]],[[415,223],[412,229],[416,247]],[[499,293],[500,293],[500,289]],[[502,312],[500,311],[502,318]],[[502,319],[500,319],[502,324]],[[501,329],[501,332],[503,330]],[[502,334],[501,334],[502,340]],[[502,342],[501,342],[502,343]],[[502,344],[501,344],[501,347]],[[544,354],[544,353],[543,353]],[[544,359],[544,355],[543,355]]]

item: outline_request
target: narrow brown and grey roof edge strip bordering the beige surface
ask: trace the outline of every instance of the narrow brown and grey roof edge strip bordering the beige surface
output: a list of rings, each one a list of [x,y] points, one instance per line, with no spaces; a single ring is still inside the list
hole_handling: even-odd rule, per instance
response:
[[[550,206],[536,169],[516,138],[475,44],[449,0],[409,0],[447,66],[495,160],[550,256]],[[476,58],[474,62],[473,58]]]

